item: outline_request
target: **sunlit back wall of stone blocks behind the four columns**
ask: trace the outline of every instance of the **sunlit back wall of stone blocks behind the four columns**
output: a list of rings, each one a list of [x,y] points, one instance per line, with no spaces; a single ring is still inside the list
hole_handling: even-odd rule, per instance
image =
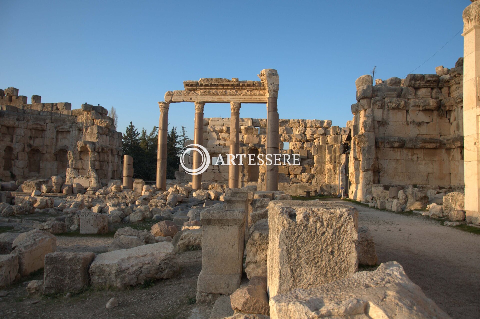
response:
[[[305,190],[337,193],[340,155],[347,149],[348,128],[331,126],[327,120],[279,120],[280,154],[300,154],[300,166],[279,166],[279,190],[290,194],[305,194]],[[230,146],[230,119],[204,118],[204,147],[212,158],[222,154],[227,159]],[[288,149],[284,149],[284,143]],[[189,142],[190,143],[190,142]],[[240,154],[266,154],[266,119],[240,118]],[[192,163],[190,157],[189,163]],[[261,190],[265,183],[265,165],[247,165],[248,158],[240,166],[241,186],[257,185]],[[191,179],[181,171],[177,179]],[[202,175],[202,182],[228,182],[228,166],[210,165]]]

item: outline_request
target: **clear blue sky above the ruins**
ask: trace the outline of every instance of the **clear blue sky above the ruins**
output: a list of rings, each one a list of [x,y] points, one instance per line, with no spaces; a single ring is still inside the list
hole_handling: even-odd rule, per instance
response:
[[[118,130],[150,131],[157,101],[184,80],[280,76],[280,118],[352,119],[355,80],[405,77],[462,28],[469,0],[404,1],[1,1],[0,88],[42,102],[114,106]],[[457,34],[414,73],[452,68]],[[193,136],[192,103],[173,103],[171,125]],[[229,117],[206,104],[205,117]],[[244,104],[241,117],[265,117]]]

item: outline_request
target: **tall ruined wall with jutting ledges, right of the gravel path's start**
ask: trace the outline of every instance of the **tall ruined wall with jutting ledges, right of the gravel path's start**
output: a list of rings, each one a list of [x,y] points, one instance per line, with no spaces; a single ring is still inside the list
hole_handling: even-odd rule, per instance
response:
[[[364,200],[373,184],[463,187],[463,58],[436,71],[356,81],[350,198]]]

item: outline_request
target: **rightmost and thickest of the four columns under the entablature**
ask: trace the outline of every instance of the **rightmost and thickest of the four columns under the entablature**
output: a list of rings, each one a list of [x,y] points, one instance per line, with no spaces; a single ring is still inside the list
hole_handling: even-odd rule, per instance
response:
[[[260,73],[262,83],[266,87],[267,95],[267,155],[273,156],[279,153],[278,150],[278,111],[277,111],[277,97],[278,97],[278,72],[274,69],[268,68],[262,70]],[[269,155],[270,154],[270,155]],[[266,191],[278,190],[278,166],[266,166]]]

